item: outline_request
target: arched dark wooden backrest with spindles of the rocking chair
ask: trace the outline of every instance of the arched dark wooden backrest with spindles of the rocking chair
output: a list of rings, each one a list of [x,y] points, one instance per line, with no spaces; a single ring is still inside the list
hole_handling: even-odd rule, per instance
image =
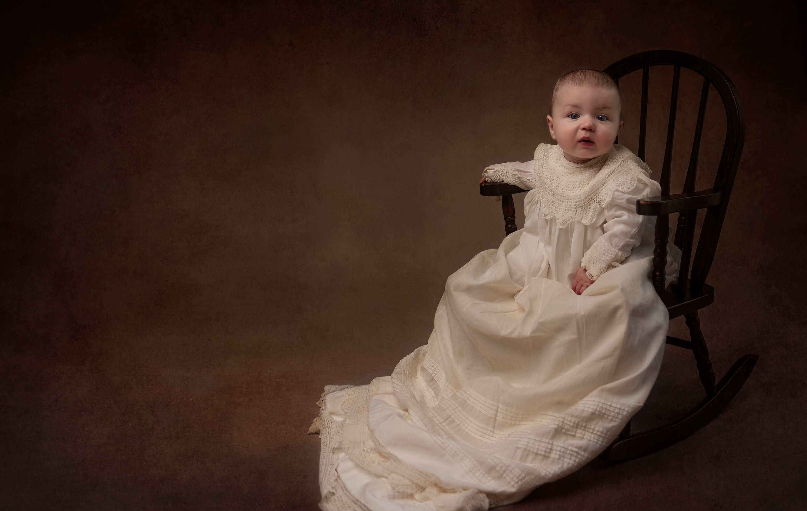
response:
[[[629,73],[642,69],[642,106],[639,119],[639,144],[637,156],[645,159],[645,140],[647,130],[647,88],[650,67],[654,65],[672,65],[672,93],[670,99],[670,117],[667,124],[667,144],[664,149],[664,160],[662,165],[661,178],[659,184],[662,188],[662,195],[670,195],[670,167],[672,161],[672,141],[675,134],[675,113],[678,107],[678,89],[681,68],[691,69],[695,73],[704,77],[703,87],[700,93],[700,107],[695,127],[695,140],[692,142],[692,152],[689,157],[689,167],[684,180],[682,193],[689,194],[695,192],[695,178],[698,164],[698,152],[700,150],[700,136],[703,132],[704,117],[706,113],[706,102],[709,97],[709,86],[714,86],[717,94],[723,101],[725,107],[725,142],[720,164],[717,167],[717,174],[714,179],[712,191],[720,193],[720,203],[706,208],[706,217],[700,231],[700,238],[696,247],[695,259],[692,261],[692,278],[690,286],[692,290],[699,290],[703,287],[709,269],[712,266],[714,253],[717,249],[717,240],[725,217],[725,210],[729,205],[731,188],[734,185],[734,175],[737,173],[737,165],[742,153],[742,144],[745,140],[746,120],[742,110],[737,88],[729,77],[725,76],[720,69],[698,57],[684,52],[670,50],[654,50],[642,52],[625,57],[621,61],[615,62],[604,69],[614,80],[619,83],[619,79]],[[675,229],[675,245],[681,249],[681,267],[679,269],[679,282],[686,283],[692,258],[692,242],[695,236],[695,224],[697,209],[679,213],[678,223]],[[669,220],[667,220],[669,221]],[[681,286],[684,291],[685,286]]]

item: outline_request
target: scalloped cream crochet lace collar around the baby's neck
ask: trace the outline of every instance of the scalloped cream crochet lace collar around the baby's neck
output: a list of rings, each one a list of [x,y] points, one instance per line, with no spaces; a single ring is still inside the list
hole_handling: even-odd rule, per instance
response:
[[[533,182],[541,216],[557,219],[558,227],[575,220],[592,224],[613,192],[633,190],[640,174],[649,176],[650,167],[622,145],[585,163],[567,161],[558,145],[535,149]]]

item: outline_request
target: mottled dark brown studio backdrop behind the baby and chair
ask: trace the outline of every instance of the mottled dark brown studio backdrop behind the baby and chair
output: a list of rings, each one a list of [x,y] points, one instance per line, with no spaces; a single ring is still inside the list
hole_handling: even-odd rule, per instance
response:
[[[654,48],[713,62],[745,102],[702,317],[718,375],[759,364],[687,441],[512,509],[807,505],[796,2],[114,3],[2,10],[0,508],[316,509],[322,387],[389,375],[445,278],[500,242],[482,168],[550,141],[563,72]],[[682,84],[679,167],[700,87]],[[691,358],[667,347],[638,421],[694,402]]]

